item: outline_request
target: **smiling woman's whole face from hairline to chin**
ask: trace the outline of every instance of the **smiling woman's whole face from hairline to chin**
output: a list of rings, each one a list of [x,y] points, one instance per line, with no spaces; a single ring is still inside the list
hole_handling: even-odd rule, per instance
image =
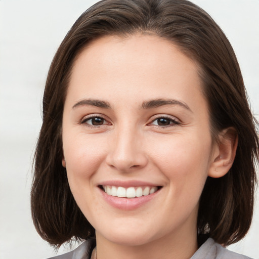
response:
[[[213,151],[197,65],[156,36],[107,36],[75,60],[63,113],[73,196],[97,238],[196,235]]]

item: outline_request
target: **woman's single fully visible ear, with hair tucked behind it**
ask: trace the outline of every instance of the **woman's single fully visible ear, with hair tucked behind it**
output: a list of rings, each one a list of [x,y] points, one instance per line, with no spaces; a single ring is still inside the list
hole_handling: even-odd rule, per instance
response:
[[[237,150],[238,135],[233,127],[228,127],[219,134],[208,170],[208,176],[223,177],[230,170]]]

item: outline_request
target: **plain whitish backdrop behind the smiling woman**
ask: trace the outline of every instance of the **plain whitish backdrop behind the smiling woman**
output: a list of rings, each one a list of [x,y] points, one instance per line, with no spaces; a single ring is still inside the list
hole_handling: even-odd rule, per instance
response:
[[[33,150],[51,60],[76,18],[96,1],[0,0],[0,258],[42,259],[56,252],[30,217]],[[222,27],[259,114],[259,1],[195,0]],[[230,249],[259,258],[258,201],[247,236]],[[67,251],[61,247],[58,254]]]

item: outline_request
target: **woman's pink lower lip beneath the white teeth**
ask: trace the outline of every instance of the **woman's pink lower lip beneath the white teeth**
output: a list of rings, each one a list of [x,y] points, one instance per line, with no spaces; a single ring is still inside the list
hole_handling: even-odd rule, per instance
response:
[[[154,199],[155,196],[159,193],[160,189],[152,194],[147,196],[135,197],[135,198],[122,198],[117,196],[108,195],[106,192],[98,188],[101,192],[102,197],[104,200],[112,205],[115,208],[122,209],[122,210],[133,210],[137,209],[150,200]]]

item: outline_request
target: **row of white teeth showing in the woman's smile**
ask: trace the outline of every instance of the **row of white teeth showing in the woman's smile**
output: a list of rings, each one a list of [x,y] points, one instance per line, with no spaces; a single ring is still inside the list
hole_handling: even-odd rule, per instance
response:
[[[126,198],[135,198],[135,197],[141,197],[141,196],[147,196],[149,194],[152,194],[158,190],[157,187],[116,187],[116,186],[110,186],[105,185],[103,186],[104,191],[108,195],[117,196],[117,197],[126,197]]]

